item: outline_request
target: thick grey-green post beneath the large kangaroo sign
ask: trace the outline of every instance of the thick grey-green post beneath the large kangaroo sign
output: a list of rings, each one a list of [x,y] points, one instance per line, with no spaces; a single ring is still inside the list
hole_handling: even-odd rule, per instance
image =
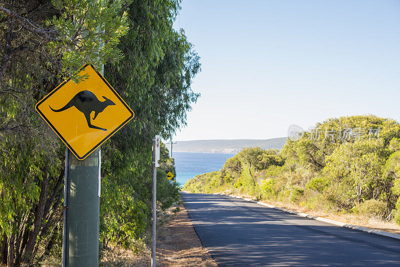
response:
[[[98,266],[100,149],[78,160],[69,151],[65,266]]]

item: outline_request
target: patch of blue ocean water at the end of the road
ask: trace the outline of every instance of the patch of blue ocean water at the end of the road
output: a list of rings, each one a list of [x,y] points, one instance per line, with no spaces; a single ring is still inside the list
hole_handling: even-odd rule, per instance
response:
[[[226,159],[234,156],[229,153],[172,152],[175,159],[176,181],[181,186],[194,176],[219,170]]]

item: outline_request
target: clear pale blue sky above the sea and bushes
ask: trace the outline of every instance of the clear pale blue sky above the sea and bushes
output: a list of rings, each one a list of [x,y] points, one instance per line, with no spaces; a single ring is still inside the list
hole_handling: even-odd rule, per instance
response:
[[[400,0],[182,0],[200,92],[175,140],[267,139],[329,117],[400,120]]]

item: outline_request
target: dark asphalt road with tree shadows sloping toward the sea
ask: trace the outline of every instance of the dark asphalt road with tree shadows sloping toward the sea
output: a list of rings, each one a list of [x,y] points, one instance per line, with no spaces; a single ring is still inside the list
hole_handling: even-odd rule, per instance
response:
[[[400,240],[335,226],[243,199],[182,193],[219,267],[400,266]]]

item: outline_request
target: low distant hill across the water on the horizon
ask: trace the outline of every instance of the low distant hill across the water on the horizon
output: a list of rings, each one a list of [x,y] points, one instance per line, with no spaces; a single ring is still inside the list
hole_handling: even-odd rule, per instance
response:
[[[172,145],[175,152],[238,153],[243,147],[259,146],[263,149],[281,149],[287,137],[272,139],[219,139],[177,141]]]

